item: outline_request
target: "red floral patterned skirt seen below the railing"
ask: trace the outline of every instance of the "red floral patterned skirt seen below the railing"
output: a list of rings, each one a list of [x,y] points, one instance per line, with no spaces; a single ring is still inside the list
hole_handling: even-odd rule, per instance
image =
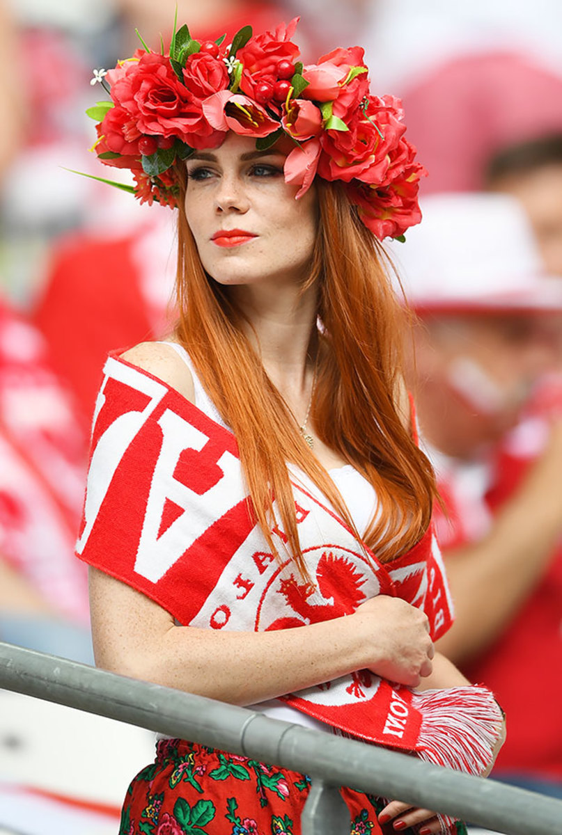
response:
[[[155,762],[127,790],[119,835],[300,835],[309,785],[298,772],[194,742],[161,740]],[[350,835],[391,831],[376,819],[385,801],[350,788],[341,794]]]

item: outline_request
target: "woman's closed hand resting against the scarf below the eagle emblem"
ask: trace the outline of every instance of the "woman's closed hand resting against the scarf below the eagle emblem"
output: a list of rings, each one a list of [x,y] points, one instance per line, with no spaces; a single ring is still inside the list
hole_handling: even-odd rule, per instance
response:
[[[431,675],[435,650],[421,610],[406,600],[378,595],[362,603],[351,619],[365,641],[367,670],[409,687]]]

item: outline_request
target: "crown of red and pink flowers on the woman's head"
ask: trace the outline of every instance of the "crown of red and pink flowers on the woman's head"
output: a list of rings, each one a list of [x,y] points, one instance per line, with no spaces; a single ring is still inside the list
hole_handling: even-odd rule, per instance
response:
[[[177,160],[217,148],[228,131],[255,137],[258,149],[289,136],[284,178],[300,186],[297,198],[315,176],[340,180],[379,240],[403,240],[421,220],[417,191],[426,172],[404,138],[401,102],[370,95],[360,47],[304,66],[290,40],[298,22],[259,35],[245,26],[228,46],[224,37],[197,41],[175,23],[168,53],[163,45],[153,52],[139,35],[143,48],[132,58],[95,70],[92,83],[111,100],[86,111],[98,123],[93,150],[104,164],[133,172],[135,186],[120,188],[174,207]]]

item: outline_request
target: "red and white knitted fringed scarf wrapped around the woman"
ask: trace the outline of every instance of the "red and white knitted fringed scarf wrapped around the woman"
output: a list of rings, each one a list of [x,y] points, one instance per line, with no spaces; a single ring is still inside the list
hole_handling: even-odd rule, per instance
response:
[[[294,478],[313,584],[275,559],[248,512],[232,433],[150,374],[110,357],[95,423],[77,553],[148,595],[182,625],[284,629],[349,615],[375,595],[424,610],[437,639],[452,606],[432,531],[381,564],[316,491]],[[283,530],[273,537],[284,553]],[[481,687],[416,693],[368,671],[284,696],[344,734],[479,773],[501,720]]]

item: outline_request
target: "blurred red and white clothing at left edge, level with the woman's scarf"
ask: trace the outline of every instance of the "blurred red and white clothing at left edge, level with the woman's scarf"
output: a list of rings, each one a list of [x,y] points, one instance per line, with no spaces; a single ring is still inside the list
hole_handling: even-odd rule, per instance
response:
[[[60,615],[85,624],[74,559],[87,436],[43,338],[0,301],[0,557]]]

